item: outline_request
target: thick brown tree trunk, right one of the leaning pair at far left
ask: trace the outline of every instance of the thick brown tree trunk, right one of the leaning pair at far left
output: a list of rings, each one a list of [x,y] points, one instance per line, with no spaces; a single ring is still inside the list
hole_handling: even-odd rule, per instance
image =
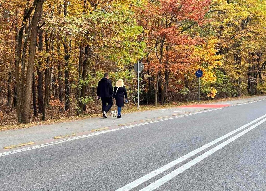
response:
[[[34,59],[35,59],[35,53],[36,53],[36,41],[37,41],[36,39],[37,39],[37,34],[38,34],[38,23],[39,23],[40,12],[43,6],[43,2],[44,0],[37,1],[34,15],[32,18],[26,86],[25,86],[24,103],[23,103],[24,106],[23,106],[23,112],[21,114],[22,123],[30,122],[30,111],[31,111],[30,104],[31,104],[32,77],[33,77],[32,74],[33,74],[33,66],[34,66]]]

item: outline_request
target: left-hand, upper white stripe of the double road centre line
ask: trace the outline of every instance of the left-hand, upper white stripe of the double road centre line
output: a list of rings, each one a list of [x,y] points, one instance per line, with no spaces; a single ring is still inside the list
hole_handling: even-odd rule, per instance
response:
[[[138,178],[137,180],[135,180],[135,181],[133,181],[133,182],[131,182],[131,183],[123,186],[122,188],[119,188],[118,190],[115,190],[115,191],[129,191],[129,190],[135,188],[136,186],[146,182],[147,180],[157,176],[158,174],[164,172],[165,170],[168,170],[169,168],[172,168],[173,166],[177,165],[178,163],[180,163],[180,162],[182,162],[182,161],[184,161],[184,160],[196,155],[197,153],[203,151],[204,149],[206,149],[208,147],[211,147],[212,145],[218,143],[219,141],[221,141],[221,140],[233,135],[234,133],[236,133],[236,132],[248,127],[249,125],[251,125],[251,124],[263,119],[264,117],[266,117],[266,114],[261,116],[261,117],[259,117],[259,118],[257,118],[257,119],[255,119],[255,120],[253,120],[253,121],[251,121],[250,123],[247,123],[246,125],[243,125],[242,127],[239,127],[237,129],[235,129],[234,131],[231,131],[230,133],[227,133],[226,135],[223,135],[222,137],[219,137],[218,139],[215,139],[215,140],[211,141],[210,143],[207,143],[206,145],[203,145],[200,148],[195,149],[194,151],[192,151],[192,152],[190,152],[190,153],[188,153],[188,154],[186,154],[186,155],[184,155],[184,156],[182,156],[182,157],[180,157],[180,158],[168,163],[167,165],[164,165],[164,166],[158,168],[157,170],[154,170],[154,171],[146,174],[145,176]]]

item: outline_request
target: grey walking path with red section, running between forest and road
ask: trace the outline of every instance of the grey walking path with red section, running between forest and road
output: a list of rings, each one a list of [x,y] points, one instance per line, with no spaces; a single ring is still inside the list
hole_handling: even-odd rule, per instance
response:
[[[200,105],[185,105],[179,107],[173,107],[168,109],[158,109],[152,111],[144,111],[130,114],[122,114],[122,119],[116,117],[93,118],[80,121],[64,122],[49,125],[39,125],[24,129],[15,129],[8,131],[0,131],[0,149],[8,145],[16,145],[19,143],[26,143],[29,141],[40,141],[45,139],[53,139],[55,136],[80,133],[85,131],[91,131],[92,129],[112,127],[118,128],[119,124],[126,123],[142,123],[141,120],[158,120],[158,117],[173,117],[174,115],[185,115],[189,113],[197,113],[204,109],[214,109],[220,107],[227,107],[236,104],[243,104],[252,101],[258,101],[266,99],[266,96],[256,96],[246,99],[238,99],[233,101],[223,101],[210,104]],[[21,148],[21,147],[20,147]],[[7,150],[6,150],[7,151]]]

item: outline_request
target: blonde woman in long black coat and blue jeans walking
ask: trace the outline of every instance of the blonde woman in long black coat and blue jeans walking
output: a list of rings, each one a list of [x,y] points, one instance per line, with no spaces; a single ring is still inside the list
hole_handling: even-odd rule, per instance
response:
[[[127,103],[127,90],[122,79],[117,80],[113,94],[113,97],[117,104],[117,119],[121,119],[121,107],[124,107],[124,97],[126,97]]]

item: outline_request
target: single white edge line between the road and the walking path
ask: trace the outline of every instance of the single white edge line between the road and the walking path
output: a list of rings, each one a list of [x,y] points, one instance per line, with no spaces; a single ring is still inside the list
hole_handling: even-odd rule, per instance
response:
[[[266,99],[263,99],[263,100],[266,100]],[[258,100],[258,101],[263,101],[263,100]],[[255,102],[258,102],[258,101],[252,101],[252,102],[248,102],[248,103],[255,103]],[[248,103],[244,103],[244,104],[248,104]],[[238,105],[244,105],[244,104],[238,104]],[[237,105],[232,105],[230,107],[234,107],[234,106],[237,106]],[[72,138],[64,139],[64,140],[60,140],[60,141],[54,141],[52,143],[46,143],[46,144],[36,145],[36,146],[32,146],[32,147],[17,149],[17,150],[14,150],[14,151],[8,151],[8,152],[0,153],[0,157],[6,156],[6,155],[15,154],[15,153],[19,153],[19,152],[29,151],[29,150],[37,149],[37,148],[41,148],[41,147],[47,147],[47,146],[50,146],[50,145],[60,144],[60,143],[64,143],[64,142],[67,142],[67,141],[73,141],[73,140],[76,140],[76,139],[82,139],[82,138],[86,138],[86,137],[90,137],[90,136],[94,136],[94,135],[99,135],[99,134],[103,134],[103,133],[109,133],[109,132],[112,132],[112,131],[118,131],[118,130],[121,130],[121,129],[138,127],[138,126],[141,126],[141,125],[147,125],[147,124],[151,124],[151,123],[157,123],[157,122],[160,122],[160,121],[166,121],[166,120],[170,120],[170,119],[176,119],[176,118],[179,118],[179,117],[184,117],[184,116],[189,116],[189,115],[195,115],[195,114],[198,114],[198,113],[210,112],[210,111],[214,111],[214,110],[218,110],[218,109],[223,109],[223,108],[226,108],[226,107],[215,108],[215,109],[210,109],[210,110],[206,110],[206,111],[200,111],[200,112],[196,112],[196,113],[189,113],[189,114],[185,114],[185,115],[174,116],[174,117],[170,117],[170,118],[166,118],[166,119],[161,119],[161,120],[156,120],[156,121],[149,121],[149,122],[146,122],[146,123],[140,123],[140,124],[130,125],[130,126],[126,126],[126,127],[120,127],[120,128],[111,129],[111,130],[108,130],[108,131],[102,131],[102,132],[97,132],[97,133],[93,133],[93,134],[72,137]]]

